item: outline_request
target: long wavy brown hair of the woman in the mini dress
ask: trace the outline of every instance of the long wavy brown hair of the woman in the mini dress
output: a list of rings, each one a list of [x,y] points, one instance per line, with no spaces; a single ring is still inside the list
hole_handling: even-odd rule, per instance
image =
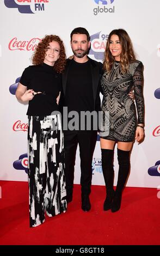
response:
[[[120,65],[121,65],[122,72],[126,73],[128,70],[129,64],[132,61],[136,60],[136,54],[134,53],[130,36],[122,28],[114,29],[112,32],[110,32],[108,36],[106,49],[104,51],[103,69],[110,72],[110,70],[112,69],[113,63],[115,62],[115,59],[109,50],[110,38],[112,35],[118,35],[119,37],[119,41],[122,47],[122,52],[120,55]]]

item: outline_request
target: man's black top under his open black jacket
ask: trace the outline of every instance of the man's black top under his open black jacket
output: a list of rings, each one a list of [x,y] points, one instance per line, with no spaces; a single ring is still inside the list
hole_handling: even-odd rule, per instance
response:
[[[70,111],[93,111],[93,85],[89,60],[78,63],[73,60],[67,76],[66,106]]]

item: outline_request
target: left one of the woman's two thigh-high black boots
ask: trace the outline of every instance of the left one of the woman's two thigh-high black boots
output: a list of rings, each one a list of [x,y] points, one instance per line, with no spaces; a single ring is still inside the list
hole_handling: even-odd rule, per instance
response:
[[[111,208],[112,200],[114,196],[113,189],[113,155],[114,150],[112,149],[101,149],[102,153],[102,171],[104,176],[104,182],[106,184],[106,192],[107,196],[103,204],[103,210],[107,211]]]

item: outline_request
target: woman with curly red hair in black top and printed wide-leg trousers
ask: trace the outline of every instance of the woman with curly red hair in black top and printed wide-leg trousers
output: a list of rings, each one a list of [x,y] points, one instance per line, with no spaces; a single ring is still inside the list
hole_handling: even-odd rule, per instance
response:
[[[58,99],[66,54],[57,35],[46,35],[23,71],[16,97],[28,105],[28,182],[30,227],[66,211],[64,144]]]

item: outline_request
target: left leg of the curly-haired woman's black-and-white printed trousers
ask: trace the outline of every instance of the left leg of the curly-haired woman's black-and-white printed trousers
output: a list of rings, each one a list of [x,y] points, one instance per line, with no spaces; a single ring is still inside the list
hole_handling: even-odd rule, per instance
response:
[[[28,168],[30,227],[36,227],[45,221],[46,187],[46,173],[40,174],[39,117],[28,117]]]

